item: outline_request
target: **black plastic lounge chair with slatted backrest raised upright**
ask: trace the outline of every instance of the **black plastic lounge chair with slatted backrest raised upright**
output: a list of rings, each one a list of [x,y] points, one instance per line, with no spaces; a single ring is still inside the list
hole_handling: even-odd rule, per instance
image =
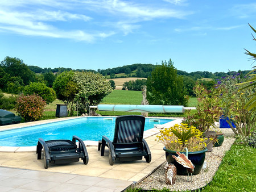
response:
[[[104,156],[105,146],[109,148],[109,164],[113,165],[115,159],[119,161],[135,161],[146,158],[151,161],[151,152],[143,139],[145,118],[141,115],[123,115],[115,119],[114,140],[102,136],[98,141],[98,151]]]

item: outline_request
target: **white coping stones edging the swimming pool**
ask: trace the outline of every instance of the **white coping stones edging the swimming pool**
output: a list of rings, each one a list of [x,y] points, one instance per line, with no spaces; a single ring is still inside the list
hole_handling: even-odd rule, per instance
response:
[[[85,116],[85,117],[95,117],[97,118],[98,116]],[[20,123],[20,124],[11,124],[7,126],[1,126],[0,131],[5,131],[5,130],[13,130],[15,128],[24,128],[28,126],[36,126],[40,124],[47,124],[47,123],[53,123],[53,122],[59,122],[63,120],[68,120],[68,119],[75,119],[75,118],[85,118],[85,117],[69,117],[69,118],[60,118],[60,119],[49,119],[49,120],[40,120],[38,122],[28,122],[28,123]],[[100,116],[103,117],[103,116]],[[106,118],[115,118],[116,116],[104,116]],[[155,126],[154,128],[151,128],[150,130],[144,131],[143,138],[146,139],[147,137],[150,137],[152,135],[156,135],[159,133],[160,129],[163,128],[168,128],[172,127],[175,124],[179,124],[182,121],[182,118],[167,118],[167,117],[148,117],[150,119],[174,119],[171,122],[162,124],[160,126]],[[84,143],[86,147],[88,146],[97,146],[98,141],[90,141],[90,140],[84,140]],[[0,152],[36,152],[36,146],[30,146],[30,147],[7,147],[7,146],[0,146]]]

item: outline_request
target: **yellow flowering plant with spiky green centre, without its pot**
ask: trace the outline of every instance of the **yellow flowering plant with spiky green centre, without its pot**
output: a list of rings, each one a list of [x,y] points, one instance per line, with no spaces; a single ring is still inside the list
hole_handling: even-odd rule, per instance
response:
[[[207,147],[206,139],[202,135],[203,132],[196,127],[188,127],[188,124],[181,123],[160,130],[156,140],[163,143],[171,151],[185,151],[185,147],[187,147],[189,152],[194,152]]]

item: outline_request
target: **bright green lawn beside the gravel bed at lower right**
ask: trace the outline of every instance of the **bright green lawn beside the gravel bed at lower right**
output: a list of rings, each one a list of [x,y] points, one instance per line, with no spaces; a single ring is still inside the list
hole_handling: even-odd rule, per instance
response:
[[[256,191],[256,148],[233,144],[226,152],[220,167],[210,182],[201,191]],[[127,189],[127,192],[142,191]],[[163,190],[152,190],[165,192]]]

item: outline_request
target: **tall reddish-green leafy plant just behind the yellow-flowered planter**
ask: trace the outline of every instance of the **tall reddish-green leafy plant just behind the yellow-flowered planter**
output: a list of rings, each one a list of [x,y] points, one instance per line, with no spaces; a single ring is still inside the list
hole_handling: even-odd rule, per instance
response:
[[[192,111],[187,111],[183,123],[202,131],[204,136],[208,137],[208,151],[212,151],[212,141],[216,140],[216,132],[210,129],[217,128],[216,122],[222,115],[221,89],[217,87],[207,90],[203,85],[197,84],[193,91],[197,97],[196,112],[192,114]]]

